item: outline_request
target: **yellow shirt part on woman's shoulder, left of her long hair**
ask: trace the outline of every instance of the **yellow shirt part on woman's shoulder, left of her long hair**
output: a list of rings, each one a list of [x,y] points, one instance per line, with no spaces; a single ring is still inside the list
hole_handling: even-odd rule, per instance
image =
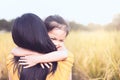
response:
[[[8,70],[8,75],[11,77],[12,80],[19,80],[17,71],[13,73],[14,62],[13,62],[13,55],[9,54],[6,60],[6,66]]]

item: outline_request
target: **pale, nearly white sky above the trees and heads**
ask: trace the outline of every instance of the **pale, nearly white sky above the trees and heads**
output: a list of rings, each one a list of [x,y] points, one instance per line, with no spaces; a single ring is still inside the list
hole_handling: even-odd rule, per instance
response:
[[[120,14],[120,0],[0,0],[0,19],[11,20],[24,13],[42,19],[57,14],[83,25],[104,25]]]

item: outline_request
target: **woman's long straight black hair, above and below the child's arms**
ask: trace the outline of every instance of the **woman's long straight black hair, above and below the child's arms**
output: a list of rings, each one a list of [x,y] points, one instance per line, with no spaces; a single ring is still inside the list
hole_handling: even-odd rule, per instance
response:
[[[44,22],[32,13],[24,14],[15,19],[12,38],[17,46],[40,53],[46,54],[57,50],[48,36]],[[14,57],[14,71],[18,69],[20,80],[46,80],[48,73],[54,73],[57,68],[57,62],[52,63],[52,69],[42,69],[40,64],[30,68],[23,68],[23,66],[18,65],[19,59],[20,57]]]

